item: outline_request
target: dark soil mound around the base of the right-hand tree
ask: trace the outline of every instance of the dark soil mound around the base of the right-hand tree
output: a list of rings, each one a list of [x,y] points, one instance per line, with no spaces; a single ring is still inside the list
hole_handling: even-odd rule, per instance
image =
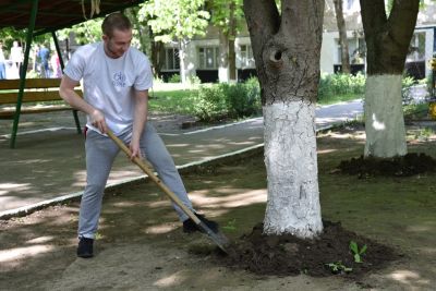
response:
[[[359,178],[367,177],[410,177],[424,172],[434,172],[436,170],[436,160],[425,154],[407,154],[393,158],[352,158],[342,160],[339,165],[339,171],[348,174],[356,174]]]

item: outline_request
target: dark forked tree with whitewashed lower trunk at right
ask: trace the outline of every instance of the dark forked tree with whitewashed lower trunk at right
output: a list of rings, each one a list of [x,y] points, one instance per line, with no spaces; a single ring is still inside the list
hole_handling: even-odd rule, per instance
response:
[[[420,0],[360,0],[367,48],[365,89],[365,157],[407,154],[401,80],[416,24]]]

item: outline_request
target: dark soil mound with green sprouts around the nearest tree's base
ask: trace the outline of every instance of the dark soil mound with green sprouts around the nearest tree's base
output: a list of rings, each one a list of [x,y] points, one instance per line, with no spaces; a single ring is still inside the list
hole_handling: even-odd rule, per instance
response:
[[[354,262],[350,241],[356,242],[359,248],[366,244],[362,263]],[[389,246],[343,229],[340,222],[329,221],[324,221],[323,233],[314,240],[302,240],[291,234],[265,235],[263,223],[258,223],[250,234],[232,242],[230,250],[232,252],[225,260],[231,268],[276,276],[306,274],[327,277],[341,274],[350,279],[380,269],[402,256]],[[346,271],[344,267],[351,270]]]

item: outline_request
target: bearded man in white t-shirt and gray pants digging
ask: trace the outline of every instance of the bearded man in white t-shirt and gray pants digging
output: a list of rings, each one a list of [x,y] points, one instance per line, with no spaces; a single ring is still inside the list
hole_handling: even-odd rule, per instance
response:
[[[147,122],[148,89],[153,73],[147,57],[132,48],[132,24],[121,13],[108,15],[101,25],[102,41],[78,48],[69,61],[60,85],[61,97],[87,114],[86,187],[78,220],[78,257],[92,257],[101,211],[102,195],[119,147],[106,135],[111,130],[132,153],[131,158],[146,157],[164,183],[193,210],[186,190],[164,142]],[[75,92],[83,80],[84,98]],[[201,230],[173,204],[183,231]],[[194,210],[193,210],[194,211]],[[196,216],[210,230],[218,225]]]

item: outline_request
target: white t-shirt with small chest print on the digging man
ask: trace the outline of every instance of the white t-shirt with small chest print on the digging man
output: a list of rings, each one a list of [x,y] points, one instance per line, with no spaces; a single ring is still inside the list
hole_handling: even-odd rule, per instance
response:
[[[111,59],[101,41],[78,48],[64,73],[77,82],[83,78],[85,100],[104,112],[106,123],[117,135],[132,130],[134,90],[153,86],[152,66],[144,53],[130,47],[122,57]],[[86,126],[99,132],[89,117]]]

